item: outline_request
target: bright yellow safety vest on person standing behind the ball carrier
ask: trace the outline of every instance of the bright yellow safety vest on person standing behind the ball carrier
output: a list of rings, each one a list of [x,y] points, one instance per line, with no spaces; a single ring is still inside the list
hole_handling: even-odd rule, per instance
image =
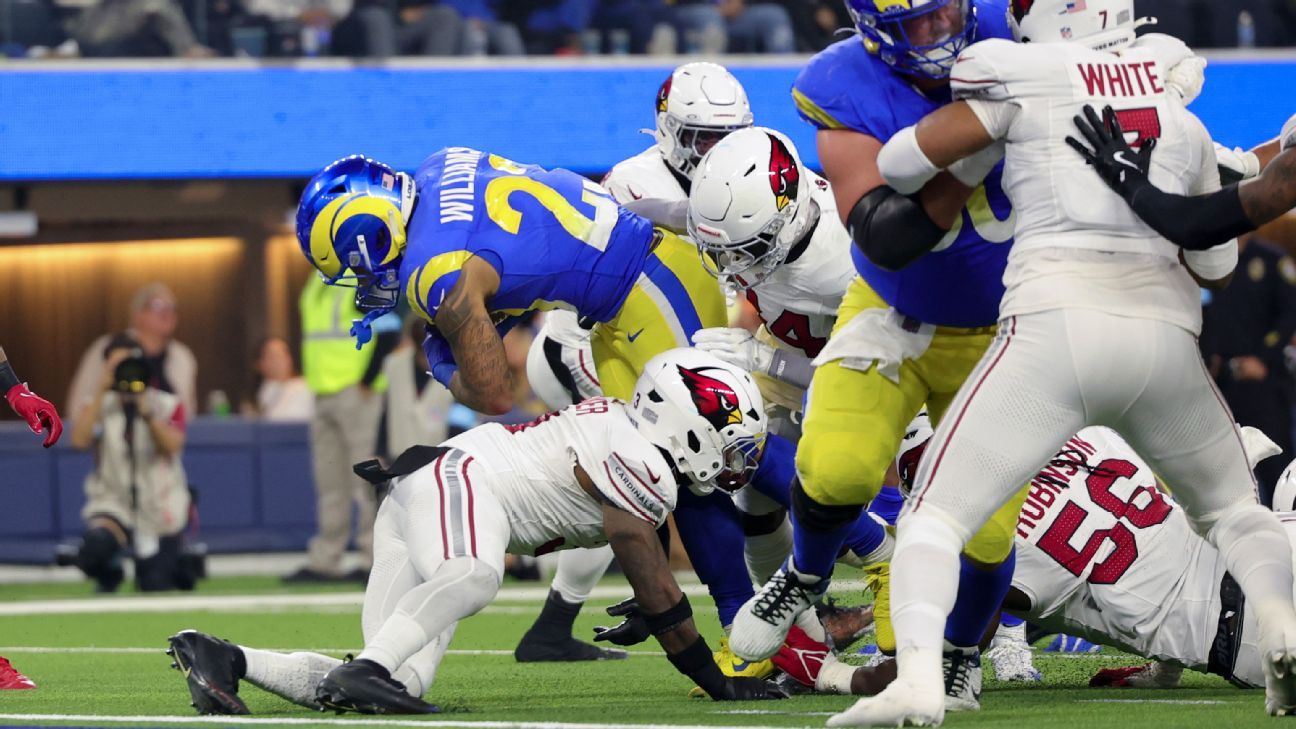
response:
[[[298,302],[302,313],[302,375],[315,394],[333,394],[359,383],[373,358],[373,340],[355,349],[351,320],[362,317],[355,291],[311,275]],[[373,389],[381,392],[380,375]]]

